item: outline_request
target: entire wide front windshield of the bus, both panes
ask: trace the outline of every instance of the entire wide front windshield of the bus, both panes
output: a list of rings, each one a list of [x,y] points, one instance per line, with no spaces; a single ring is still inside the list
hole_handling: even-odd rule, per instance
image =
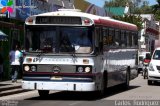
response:
[[[26,26],[27,52],[91,53],[90,27]]]

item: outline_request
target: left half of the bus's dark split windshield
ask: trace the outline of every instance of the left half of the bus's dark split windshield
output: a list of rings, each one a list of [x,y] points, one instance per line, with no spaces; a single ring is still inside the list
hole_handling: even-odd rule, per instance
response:
[[[29,52],[51,52],[56,43],[56,30],[51,27],[27,27],[25,49]]]

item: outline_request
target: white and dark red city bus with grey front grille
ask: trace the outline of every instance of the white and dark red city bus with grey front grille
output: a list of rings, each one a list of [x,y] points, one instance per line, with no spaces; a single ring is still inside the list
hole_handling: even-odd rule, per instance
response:
[[[25,21],[22,88],[98,91],[137,77],[138,29],[110,17],[60,9]],[[83,39],[81,43],[78,43]]]

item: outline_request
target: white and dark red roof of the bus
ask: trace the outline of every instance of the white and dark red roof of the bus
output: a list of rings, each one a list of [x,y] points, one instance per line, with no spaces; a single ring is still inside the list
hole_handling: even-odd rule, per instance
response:
[[[133,30],[137,31],[138,28],[136,25],[115,20],[110,17],[104,17],[104,16],[97,16],[89,13],[80,12],[73,9],[62,9],[55,12],[48,12],[48,13],[42,13],[34,16],[73,16],[73,17],[86,17],[88,19],[91,19],[93,21],[93,24],[95,25],[103,25],[108,27],[114,27],[114,28],[120,28],[120,29],[127,29],[127,30]]]

